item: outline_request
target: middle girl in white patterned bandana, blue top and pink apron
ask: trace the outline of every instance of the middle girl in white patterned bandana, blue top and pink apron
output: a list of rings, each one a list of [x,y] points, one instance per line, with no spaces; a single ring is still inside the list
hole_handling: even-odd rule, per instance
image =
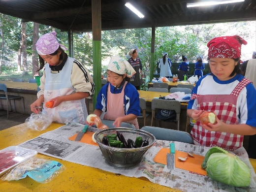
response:
[[[138,129],[139,93],[128,82],[135,73],[126,60],[119,56],[112,57],[107,67],[108,83],[100,89],[94,114],[99,117],[102,112],[105,112],[103,119],[113,120],[115,127],[120,127],[122,122],[127,122]],[[93,123],[88,125],[92,126]]]

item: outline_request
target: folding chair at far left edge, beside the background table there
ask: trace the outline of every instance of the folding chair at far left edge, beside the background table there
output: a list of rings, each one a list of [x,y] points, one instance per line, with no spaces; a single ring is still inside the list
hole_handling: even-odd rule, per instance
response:
[[[13,95],[8,95],[7,93],[7,87],[5,84],[3,83],[0,83],[0,91],[3,91],[5,94],[0,94],[0,101],[1,101],[1,107],[3,109],[3,106],[2,106],[2,99],[5,99],[6,100],[6,113],[4,114],[1,114],[1,115],[5,115],[7,114],[7,119],[9,118],[9,113],[16,113],[16,105],[15,105],[15,99],[22,99],[23,101],[23,113],[20,114],[20,115],[23,115],[25,114],[25,102],[24,102],[24,97],[23,96],[13,96]],[[14,111],[10,111],[9,112],[9,104],[10,104],[10,107],[11,107],[11,100],[13,100],[13,103],[14,103]],[[19,116],[19,115],[17,115]],[[15,117],[17,117],[15,116]]]

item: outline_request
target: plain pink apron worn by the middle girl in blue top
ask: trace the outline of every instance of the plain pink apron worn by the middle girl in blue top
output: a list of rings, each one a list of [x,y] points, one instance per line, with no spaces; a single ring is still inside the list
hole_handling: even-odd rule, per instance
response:
[[[125,91],[124,90],[125,90],[126,84],[127,84],[127,81],[125,82],[123,90],[120,94],[112,94],[110,92],[110,85],[108,85],[107,112],[105,113],[103,119],[115,121],[116,118],[125,115],[125,109],[124,109]],[[139,129],[137,118],[134,120],[128,121],[127,123],[131,123],[135,126],[136,129]]]

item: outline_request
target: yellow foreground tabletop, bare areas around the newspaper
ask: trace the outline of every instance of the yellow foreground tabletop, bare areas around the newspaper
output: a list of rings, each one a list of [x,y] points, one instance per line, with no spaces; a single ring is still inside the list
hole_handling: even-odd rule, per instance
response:
[[[1,130],[0,150],[8,146],[18,145],[61,126],[63,124],[52,123],[46,130],[34,131],[27,130],[26,124],[21,124]],[[171,188],[154,184],[144,177],[126,177],[41,154],[37,154],[36,157],[57,160],[64,164],[66,170],[46,184],[37,183],[29,177],[11,182],[0,180],[0,192],[177,192]]]

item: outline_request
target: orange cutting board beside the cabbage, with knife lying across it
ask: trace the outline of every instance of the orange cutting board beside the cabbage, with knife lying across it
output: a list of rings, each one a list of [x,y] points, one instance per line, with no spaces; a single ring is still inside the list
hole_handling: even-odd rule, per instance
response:
[[[167,153],[170,153],[170,148],[162,148],[154,158],[155,162],[161,163],[161,164],[167,164],[166,163],[166,156]],[[175,167],[184,169],[187,171],[191,171],[194,173],[198,173],[201,175],[207,175],[206,170],[204,170],[201,167],[201,164],[203,163],[204,157],[193,154],[194,158],[188,157],[188,153],[182,152],[182,151],[176,151],[175,150]],[[186,161],[181,161],[178,159],[178,157],[185,158],[188,157]]]

